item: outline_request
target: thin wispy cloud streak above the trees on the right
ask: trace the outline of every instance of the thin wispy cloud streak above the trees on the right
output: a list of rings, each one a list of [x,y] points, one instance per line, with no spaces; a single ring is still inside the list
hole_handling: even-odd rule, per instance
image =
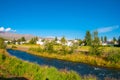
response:
[[[116,26],[99,28],[99,29],[97,29],[97,31],[99,33],[106,33],[106,32],[110,32],[110,31],[113,31],[113,30],[118,29],[118,28],[119,28],[119,25],[116,25]]]

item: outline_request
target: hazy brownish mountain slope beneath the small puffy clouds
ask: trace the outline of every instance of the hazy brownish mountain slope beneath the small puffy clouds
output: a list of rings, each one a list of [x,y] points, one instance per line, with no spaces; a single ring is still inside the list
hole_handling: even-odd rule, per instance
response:
[[[30,40],[31,38],[35,37],[34,35],[30,34],[17,34],[13,32],[0,32],[0,37],[3,37],[5,39],[20,39],[21,37],[25,37],[26,40]]]

